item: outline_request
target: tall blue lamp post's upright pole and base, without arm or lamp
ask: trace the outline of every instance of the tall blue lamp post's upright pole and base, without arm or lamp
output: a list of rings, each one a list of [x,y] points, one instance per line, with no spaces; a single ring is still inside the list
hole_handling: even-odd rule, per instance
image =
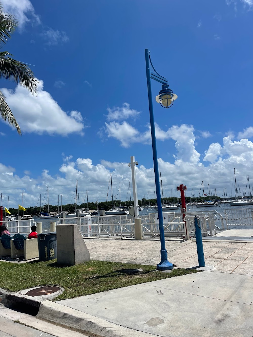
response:
[[[173,264],[168,261],[167,250],[165,248],[164,228],[163,228],[163,211],[162,211],[159,170],[158,170],[158,161],[157,161],[156,131],[154,127],[154,113],[153,113],[153,103],[152,103],[152,93],[151,93],[151,74],[150,74],[148,49],[145,49],[145,58],[146,58],[146,74],[147,74],[151,139],[152,139],[152,150],[153,150],[153,161],[154,161],[154,179],[156,182],[157,208],[158,208],[159,231],[160,231],[160,242],[161,242],[161,262],[157,265],[157,269],[158,270],[170,270],[170,269],[173,269]]]

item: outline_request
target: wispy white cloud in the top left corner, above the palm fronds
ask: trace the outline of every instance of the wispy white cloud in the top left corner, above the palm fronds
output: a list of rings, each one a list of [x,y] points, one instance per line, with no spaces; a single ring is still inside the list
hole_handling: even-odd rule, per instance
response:
[[[4,11],[16,16],[21,29],[28,22],[40,23],[39,17],[35,14],[33,5],[29,0],[1,0],[1,3]]]

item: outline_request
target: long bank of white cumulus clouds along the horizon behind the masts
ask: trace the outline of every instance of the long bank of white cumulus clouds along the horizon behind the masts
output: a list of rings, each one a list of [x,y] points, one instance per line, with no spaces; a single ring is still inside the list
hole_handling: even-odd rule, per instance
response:
[[[186,128],[185,126],[182,128]],[[180,126],[170,130],[174,139],[178,139],[178,134],[182,134]],[[181,130],[181,131],[180,131]],[[185,133],[190,135],[190,130]],[[186,135],[185,135],[186,136]],[[184,136],[184,137],[185,137]],[[205,152],[205,161],[203,165],[198,160],[189,160],[181,155],[181,159],[176,158],[174,162],[158,159],[159,171],[162,173],[164,195],[173,190],[175,195],[176,186],[183,182],[188,189],[198,194],[201,181],[209,183],[210,188],[216,187],[217,194],[222,195],[223,188],[227,188],[228,194],[232,189],[233,167],[235,167],[238,184],[246,186],[247,176],[250,181],[253,178],[253,143],[243,139],[232,141],[229,136],[224,137],[223,146],[219,143],[213,143]],[[135,156],[138,160],[138,155]],[[187,161],[188,160],[188,161]],[[139,199],[147,196],[148,192],[154,191],[154,170],[152,166],[145,167],[140,160],[136,167],[136,181]],[[78,180],[79,198],[85,197],[86,190],[89,193],[89,200],[106,200],[108,182],[110,173],[113,177],[113,194],[117,195],[119,183],[121,183],[121,197],[124,204],[128,191],[129,181],[131,181],[131,167],[128,162],[111,162],[101,160],[93,163],[91,158],[76,158],[72,155],[63,154],[63,163],[59,163],[58,174],[51,175],[48,170],[43,170],[36,178],[32,173],[25,171],[24,176],[15,174],[13,167],[0,164],[0,184],[4,191],[2,195],[2,205],[5,206],[9,195],[10,207],[17,207],[22,200],[24,192],[25,206],[36,206],[39,194],[43,196],[49,186],[50,203],[57,204],[58,194],[62,194],[64,203],[71,202],[71,196],[74,193],[76,180]],[[73,202],[73,200],[72,200]]]

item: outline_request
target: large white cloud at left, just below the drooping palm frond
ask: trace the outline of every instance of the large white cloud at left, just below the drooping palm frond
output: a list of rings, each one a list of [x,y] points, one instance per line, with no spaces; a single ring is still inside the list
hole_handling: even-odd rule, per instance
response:
[[[12,113],[16,117],[22,132],[38,134],[49,133],[66,136],[72,132],[82,134],[80,112],[64,112],[53,97],[43,90],[43,81],[39,81],[37,96],[32,96],[18,85],[15,91],[1,89]]]

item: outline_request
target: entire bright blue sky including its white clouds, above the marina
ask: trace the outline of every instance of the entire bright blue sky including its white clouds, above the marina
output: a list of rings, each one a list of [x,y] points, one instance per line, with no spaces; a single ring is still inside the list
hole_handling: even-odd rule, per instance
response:
[[[197,190],[203,179],[231,190],[233,167],[243,186],[253,178],[252,0],[2,2],[20,22],[3,48],[41,81],[34,98],[0,80],[22,129],[1,123],[12,206],[22,192],[36,204],[46,186],[69,202],[76,179],[80,197],[102,200],[110,172],[126,192],[131,155],[139,198],[154,189],[145,48],[178,95],[170,109],[154,101],[165,188]],[[153,81],[153,98],[160,89]]]

